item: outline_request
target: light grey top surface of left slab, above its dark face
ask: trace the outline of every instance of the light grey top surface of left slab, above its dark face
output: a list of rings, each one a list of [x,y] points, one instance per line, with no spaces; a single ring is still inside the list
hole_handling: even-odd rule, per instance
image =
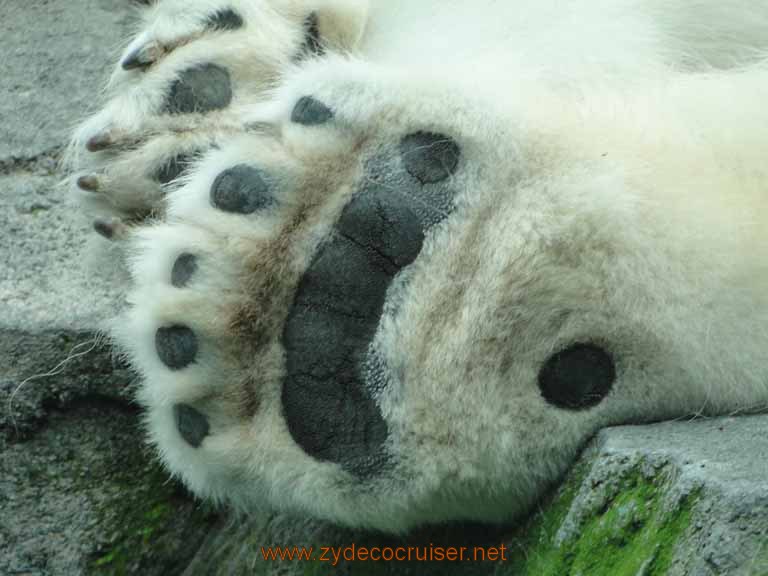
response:
[[[0,0],[0,322],[40,331],[92,327],[119,278],[90,266],[85,218],[57,171],[72,127],[96,105],[128,35],[128,0]],[[105,259],[105,261],[107,261]],[[97,274],[97,271],[101,274]],[[75,295],[88,295],[87,298]]]

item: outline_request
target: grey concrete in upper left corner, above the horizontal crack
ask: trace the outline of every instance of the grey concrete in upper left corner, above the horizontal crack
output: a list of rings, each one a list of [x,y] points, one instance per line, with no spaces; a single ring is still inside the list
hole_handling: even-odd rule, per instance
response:
[[[50,154],[95,105],[128,0],[0,0],[0,165]]]

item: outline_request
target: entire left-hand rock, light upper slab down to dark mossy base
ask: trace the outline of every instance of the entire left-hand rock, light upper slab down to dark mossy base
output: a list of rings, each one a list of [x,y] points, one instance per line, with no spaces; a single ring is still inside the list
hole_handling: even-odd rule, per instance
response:
[[[125,276],[57,167],[130,3],[0,0],[0,13],[0,574],[173,574],[210,516],[147,455],[132,376],[96,340]]]

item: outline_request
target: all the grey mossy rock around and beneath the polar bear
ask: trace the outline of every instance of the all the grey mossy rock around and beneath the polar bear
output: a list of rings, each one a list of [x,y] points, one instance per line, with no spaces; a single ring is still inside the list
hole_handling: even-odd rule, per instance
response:
[[[283,516],[233,523],[192,501],[142,448],[132,376],[94,339],[125,277],[56,186],[129,2],[0,9],[0,574],[321,574],[331,567],[263,562],[260,547],[506,542],[507,564],[342,572],[768,575],[768,416],[606,430],[521,527],[397,540]]]

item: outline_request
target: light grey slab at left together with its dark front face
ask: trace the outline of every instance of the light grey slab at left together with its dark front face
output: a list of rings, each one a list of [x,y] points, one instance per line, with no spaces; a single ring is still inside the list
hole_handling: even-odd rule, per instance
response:
[[[59,160],[134,12],[122,0],[0,0],[0,13],[0,427],[16,433],[45,402],[125,395],[127,374],[105,374],[112,352],[90,344],[125,272],[61,185]],[[83,355],[60,366],[72,354]]]

